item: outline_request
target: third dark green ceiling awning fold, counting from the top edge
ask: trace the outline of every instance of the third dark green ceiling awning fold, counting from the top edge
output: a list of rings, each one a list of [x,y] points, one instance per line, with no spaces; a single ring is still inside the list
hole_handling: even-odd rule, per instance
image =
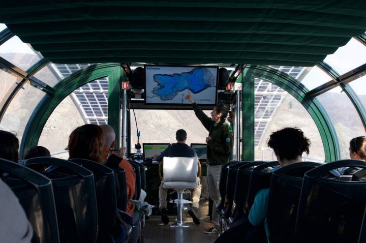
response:
[[[366,21],[365,21],[366,23]],[[220,21],[62,21],[54,23],[8,24],[19,37],[74,33],[138,32],[138,33],[216,33],[222,34],[275,34],[294,36],[350,37],[362,34],[359,29],[325,27],[292,23],[220,22]],[[71,38],[71,37],[70,37]]]

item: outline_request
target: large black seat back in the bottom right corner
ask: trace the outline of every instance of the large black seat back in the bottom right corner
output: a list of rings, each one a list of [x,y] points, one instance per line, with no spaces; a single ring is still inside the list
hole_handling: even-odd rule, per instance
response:
[[[366,182],[323,176],[341,167],[366,168],[366,164],[357,160],[335,161],[304,175],[296,220],[296,236],[302,242],[358,241],[366,205]]]

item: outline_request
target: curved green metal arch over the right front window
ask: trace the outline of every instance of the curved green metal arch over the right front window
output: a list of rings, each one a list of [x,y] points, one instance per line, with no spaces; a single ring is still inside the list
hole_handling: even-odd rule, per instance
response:
[[[339,141],[333,124],[320,102],[316,98],[306,97],[307,92],[309,92],[307,87],[289,75],[270,67],[248,65],[246,69],[248,69],[246,75],[264,78],[283,88],[300,102],[309,112],[319,130],[324,146],[325,160],[331,162],[341,158]]]

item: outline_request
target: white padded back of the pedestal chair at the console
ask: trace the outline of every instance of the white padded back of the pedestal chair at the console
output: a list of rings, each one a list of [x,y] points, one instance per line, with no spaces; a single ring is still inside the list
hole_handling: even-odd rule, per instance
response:
[[[164,157],[164,188],[189,189],[197,188],[197,157]]]

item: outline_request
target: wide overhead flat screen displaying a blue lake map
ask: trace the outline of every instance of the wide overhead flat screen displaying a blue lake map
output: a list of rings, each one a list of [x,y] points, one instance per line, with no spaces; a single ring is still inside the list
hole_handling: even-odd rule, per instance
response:
[[[218,67],[144,66],[145,104],[190,105],[188,90],[199,105],[216,105]]]

